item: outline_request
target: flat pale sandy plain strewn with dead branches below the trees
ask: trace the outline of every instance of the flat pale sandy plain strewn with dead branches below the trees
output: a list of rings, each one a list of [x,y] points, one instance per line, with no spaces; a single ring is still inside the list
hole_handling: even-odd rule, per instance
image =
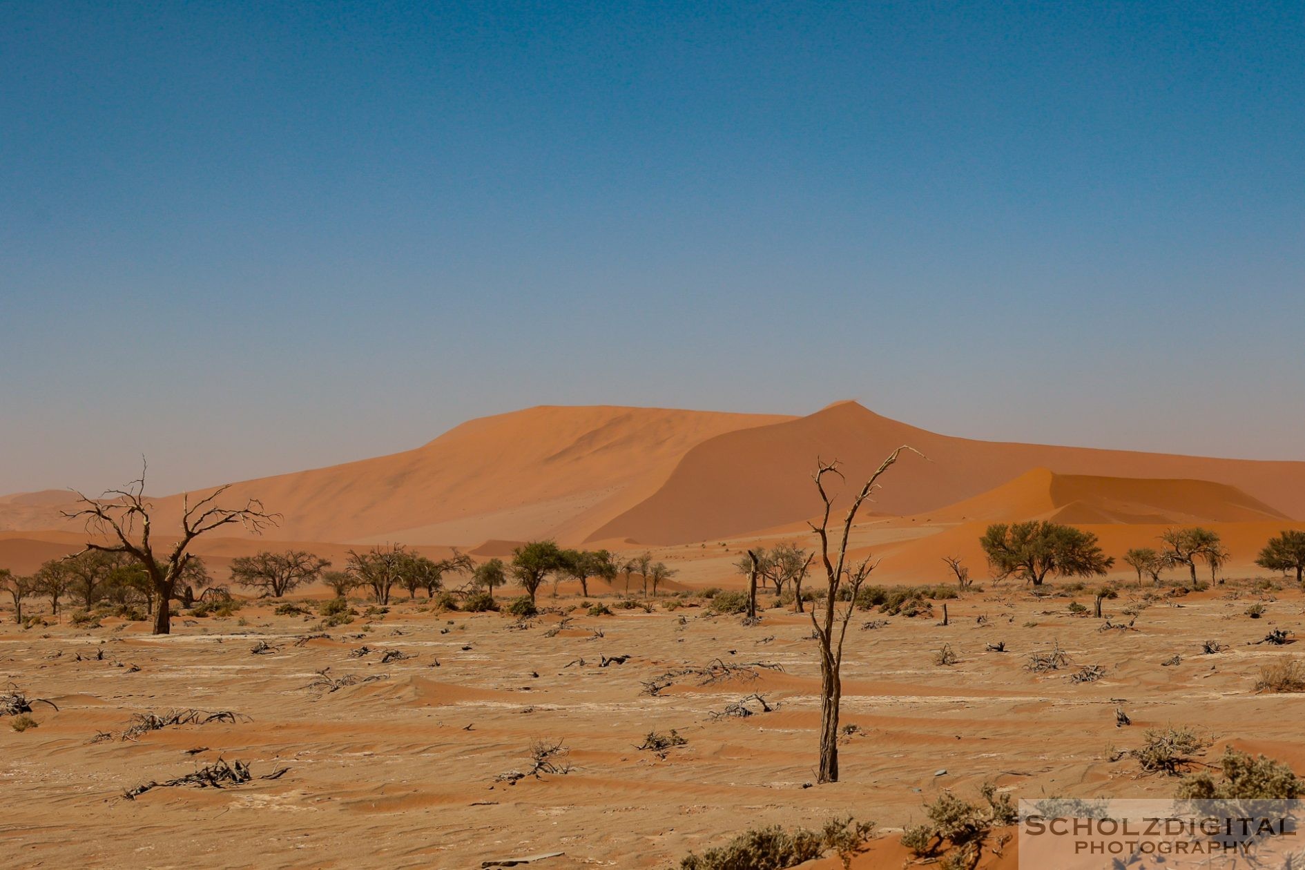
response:
[[[1138,597],[1107,601],[1107,616],[1130,618],[1121,612]],[[1266,617],[1246,617],[1261,597]],[[659,604],[654,613],[576,610],[565,625],[548,613],[517,629],[500,614],[401,603],[301,644],[295,638],[315,631],[317,617],[274,616],[268,605],[232,618],[183,617],[167,638],[116,620],[29,631],[5,623],[0,676],[59,711],[38,704],[39,727],[22,733],[0,727],[0,863],[476,867],[564,852],[532,866],[666,867],[773,822],[852,814],[900,828],[941,789],[971,794],[984,780],[1015,797],[1168,796],[1172,780],[1108,759],[1138,745],[1146,728],[1169,724],[1198,727],[1215,741],[1211,753],[1231,741],[1302,770],[1305,697],[1253,687],[1259,667],[1292,655],[1292,646],[1250,644],[1272,627],[1300,630],[1300,592],[1224,587],[1151,604],[1134,630],[1107,631],[1071,616],[1070,600],[989,586],[950,601],[949,626],[938,625],[941,609],[933,618],[856,613],[843,723],[857,733],[842,749],[842,781],[820,787],[809,787],[816,646],[806,617],[778,609],[753,627]],[[540,603],[566,608],[578,599],[542,595]],[[1228,650],[1202,655],[1206,639]],[[253,655],[260,640],[275,651]],[[998,640],[1009,652],[985,652]],[[933,664],[944,643],[958,664]],[[1074,685],[1067,672],[1028,672],[1028,655],[1053,643],[1074,668],[1103,665],[1105,678]],[[364,646],[371,652],[351,656]],[[382,664],[392,650],[412,657]],[[1161,667],[1173,653],[1181,664]],[[604,656],[629,659],[602,667]],[[718,659],[782,670],[710,685],[676,677],[659,697],[641,685]],[[334,693],[305,689],[324,668],[382,678]],[[778,708],[713,719],[753,693]],[[1116,728],[1117,706],[1130,728]],[[93,742],[120,733],[133,713],[177,707],[249,719]],[[666,758],[637,749],[650,729],[672,728],[688,743]],[[529,770],[535,740],[561,741],[570,772],[496,783]],[[226,789],[123,798],[219,757],[247,762],[254,777],[290,770]],[[857,866],[900,866],[906,856],[894,836],[874,854]]]

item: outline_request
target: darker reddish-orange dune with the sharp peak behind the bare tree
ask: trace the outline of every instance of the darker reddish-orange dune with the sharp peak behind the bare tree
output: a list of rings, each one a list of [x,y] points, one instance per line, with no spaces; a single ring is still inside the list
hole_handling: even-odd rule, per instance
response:
[[[645,544],[720,540],[816,514],[816,457],[839,459],[860,485],[898,445],[906,455],[882,480],[873,510],[923,514],[979,496],[1034,468],[1061,475],[1208,480],[1250,496],[1249,507],[1305,517],[1305,462],[1206,459],[1167,454],[970,441],[889,420],[855,402],[697,445],[655,494],[594,532]],[[837,485],[837,484],[835,484]],[[1238,497],[1240,498],[1240,497]],[[1254,500],[1265,502],[1255,505]],[[1181,511],[1180,511],[1181,513]],[[1186,511],[1199,513],[1199,511]]]

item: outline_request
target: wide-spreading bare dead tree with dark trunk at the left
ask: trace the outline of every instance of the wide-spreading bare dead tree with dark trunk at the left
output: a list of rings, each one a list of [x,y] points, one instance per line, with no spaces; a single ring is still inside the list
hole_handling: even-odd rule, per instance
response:
[[[140,563],[159,600],[158,610],[154,613],[154,634],[170,634],[168,603],[176,592],[177,580],[193,558],[188,550],[194,539],[232,523],[240,523],[247,531],[261,535],[262,530],[275,526],[281,518],[279,514],[266,513],[257,498],[247,500],[245,506],[240,509],[218,507],[218,497],[230,488],[230,484],[218,487],[193,505],[189,494],[181,497],[181,535],[162,561],[155,558],[154,543],[150,540],[153,532],[150,513],[154,505],[145,498],[144,463],[141,476],[123,489],[110,489],[99,498],[77,493],[77,501],[85,507],[72,513],[64,511],[64,517],[84,519],[89,535],[110,541],[107,544],[87,541],[81,553],[91,550],[124,553]]]

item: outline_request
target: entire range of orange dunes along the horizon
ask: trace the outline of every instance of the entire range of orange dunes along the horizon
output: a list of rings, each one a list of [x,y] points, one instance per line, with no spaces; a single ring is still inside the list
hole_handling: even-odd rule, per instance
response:
[[[257,497],[283,514],[270,540],[479,547],[552,536],[672,545],[800,523],[818,507],[817,457],[839,459],[850,489],[903,443],[928,459],[904,455],[867,515],[936,523],[1305,517],[1305,462],[971,441],[855,402],[804,417],[536,407],[471,420],[416,450],[238,483],[224,500]],[[0,531],[74,531],[59,515],[61,501],[59,490],[0,498]],[[180,497],[155,503],[159,527],[171,528]]]

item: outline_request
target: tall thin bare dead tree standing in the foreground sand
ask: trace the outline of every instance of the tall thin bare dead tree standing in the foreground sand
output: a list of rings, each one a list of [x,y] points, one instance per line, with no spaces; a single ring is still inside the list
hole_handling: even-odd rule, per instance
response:
[[[856,511],[860,510],[861,502],[869,498],[870,493],[877,489],[876,484],[880,475],[898,460],[903,450],[924,455],[919,450],[904,445],[889,454],[889,458],[880,464],[874,473],[870,475],[870,479],[865,481],[865,485],[861,487],[861,490],[852,498],[852,503],[847,509],[847,515],[843,518],[842,539],[838,541],[837,550],[833,554],[830,553],[829,515],[834,507],[834,497],[825,489],[825,476],[838,475],[843,477],[843,473],[838,470],[837,460],[831,463],[825,463],[820,459],[816,460],[813,480],[816,481],[816,489],[820,492],[825,510],[821,514],[818,526],[816,523],[809,524],[820,537],[820,557],[821,563],[825,566],[826,580],[823,612],[817,617],[820,608],[812,608],[812,625],[816,627],[816,639],[820,643],[821,672],[818,783],[838,781],[838,711],[843,697],[843,685],[839,673],[843,668],[843,639],[847,637],[847,623],[855,610],[856,593],[876,565],[868,557],[855,566],[847,565],[847,544],[852,533],[852,522],[856,519]],[[844,590],[850,593],[847,596],[847,607],[839,612],[838,601]]]

